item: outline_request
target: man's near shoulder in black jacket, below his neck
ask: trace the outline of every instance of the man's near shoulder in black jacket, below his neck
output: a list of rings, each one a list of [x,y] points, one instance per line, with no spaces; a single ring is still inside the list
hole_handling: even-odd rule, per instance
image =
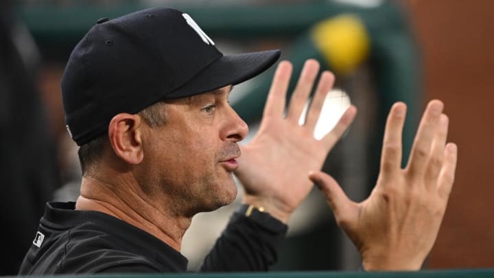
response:
[[[156,273],[187,268],[187,260],[164,242],[104,213],[54,204],[38,233],[43,237],[27,253],[22,273]]]

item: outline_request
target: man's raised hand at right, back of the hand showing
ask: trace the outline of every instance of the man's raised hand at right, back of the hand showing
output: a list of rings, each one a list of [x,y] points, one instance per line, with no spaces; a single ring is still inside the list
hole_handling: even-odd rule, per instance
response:
[[[448,118],[438,100],[425,109],[408,165],[401,169],[405,110],[403,103],[391,108],[379,178],[366,200],[352,202],[327,174],[309,175],[362,254],[366,270],[420,269],[436,240],[454,183],[457,150],[454,143],[446,143]]]

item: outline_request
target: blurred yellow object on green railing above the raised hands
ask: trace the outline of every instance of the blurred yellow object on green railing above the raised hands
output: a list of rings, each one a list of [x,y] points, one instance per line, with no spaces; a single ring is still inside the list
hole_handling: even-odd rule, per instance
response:
[[[311,37],[336,73],[351,73],[369,53],[369,36],[362,21],[353,14],[316,23]]]

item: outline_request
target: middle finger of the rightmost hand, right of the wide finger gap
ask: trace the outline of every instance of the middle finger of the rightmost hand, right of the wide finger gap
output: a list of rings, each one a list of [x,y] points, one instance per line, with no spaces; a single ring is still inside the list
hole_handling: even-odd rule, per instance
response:
[[[424,177],[427,161],[429,160],[432,141],[436,135],[440,115],[443,113],[443,102],[432,100],[425,108],[424,115],[415,136],[410,159],[408,160],[408,173],[412,179]]]

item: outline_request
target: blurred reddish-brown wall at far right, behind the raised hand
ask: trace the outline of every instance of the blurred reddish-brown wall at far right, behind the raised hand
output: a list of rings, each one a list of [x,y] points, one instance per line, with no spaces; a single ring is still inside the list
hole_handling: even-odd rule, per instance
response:
[[[494,266],[494,1],[405,3],[421,41],[425,96],[445,102],[456,183],[429,268]]]

